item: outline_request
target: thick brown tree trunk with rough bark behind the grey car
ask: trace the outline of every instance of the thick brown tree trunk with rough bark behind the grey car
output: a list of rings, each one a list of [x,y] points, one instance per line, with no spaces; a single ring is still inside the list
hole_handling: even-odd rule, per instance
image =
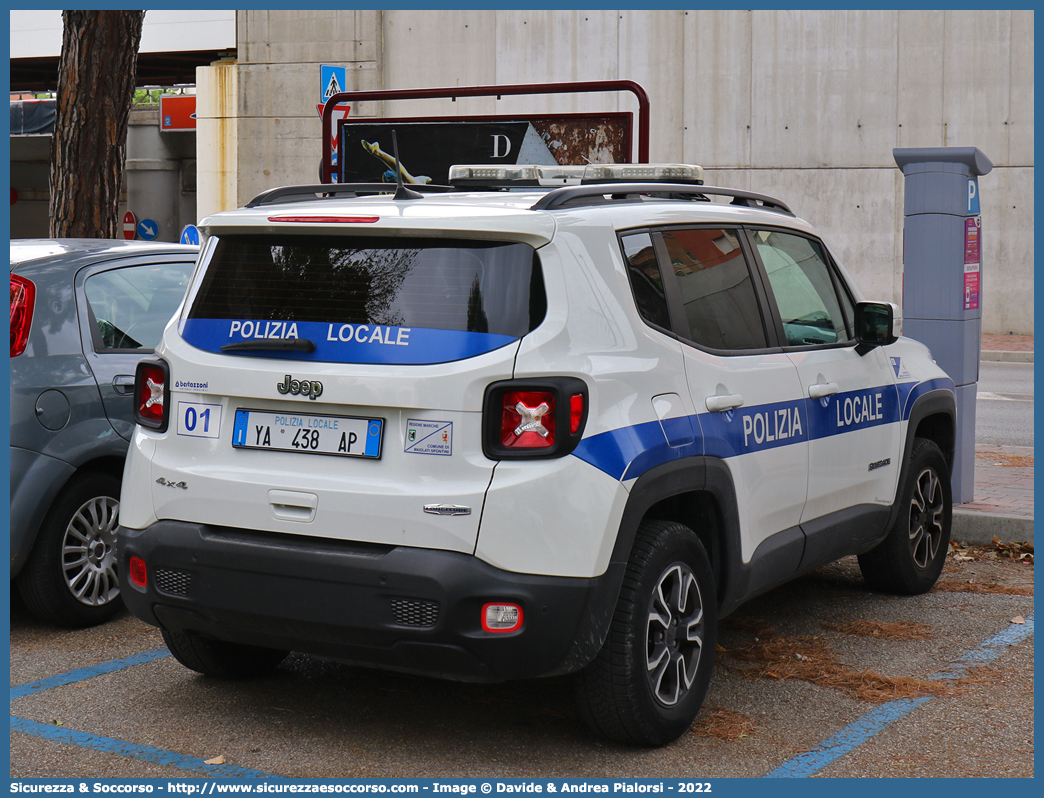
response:
[[[145,11],[66,10],[62,18],[51,137],[51,236],[116,238]]]

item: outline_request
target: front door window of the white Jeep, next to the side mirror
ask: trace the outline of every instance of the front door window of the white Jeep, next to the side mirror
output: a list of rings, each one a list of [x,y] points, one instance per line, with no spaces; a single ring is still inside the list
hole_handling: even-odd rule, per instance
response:
[[[783,319],[787,346],[850,339],[821,244],[802,236],[767,230],[755,231],[754,240]],[[845,300],[851,319],[851,303],[847,297]]]

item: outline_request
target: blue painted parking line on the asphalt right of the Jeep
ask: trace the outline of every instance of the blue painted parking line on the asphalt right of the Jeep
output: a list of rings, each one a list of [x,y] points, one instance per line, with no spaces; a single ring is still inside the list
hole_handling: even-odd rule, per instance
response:
[[[1030,615],[1025,624],[1013,624],[979,648],[965,654],[953,666],[941,671],[930,679],[931,681],[959,679],[969,668],[992,662],[1004,649],[1017,646],[1033,633],[1034,616]],[[833,736],[827,737],[813,750],[799,754],[770,773],[766,773],[764,778],[807,778],[814,775],[931,700],[931,697],[899,699],[882,704]]]

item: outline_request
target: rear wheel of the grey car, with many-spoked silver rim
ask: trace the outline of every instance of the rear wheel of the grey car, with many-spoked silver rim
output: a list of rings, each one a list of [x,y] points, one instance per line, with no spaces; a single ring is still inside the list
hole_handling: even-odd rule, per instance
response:
[[[30,612],[67,627],[104,623],[123,608],[116,574],[120,480],[73,476],[44,516],[18,591]]]

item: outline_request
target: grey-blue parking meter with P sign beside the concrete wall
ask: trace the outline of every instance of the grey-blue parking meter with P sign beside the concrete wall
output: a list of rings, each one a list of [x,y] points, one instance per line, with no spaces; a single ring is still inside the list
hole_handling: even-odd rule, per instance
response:
[[[953,500],[975,489],[975,392],[982,335],[982,222],[977,147],[898,147],[905,182],[903,332],[925,344],[955,384]]]

